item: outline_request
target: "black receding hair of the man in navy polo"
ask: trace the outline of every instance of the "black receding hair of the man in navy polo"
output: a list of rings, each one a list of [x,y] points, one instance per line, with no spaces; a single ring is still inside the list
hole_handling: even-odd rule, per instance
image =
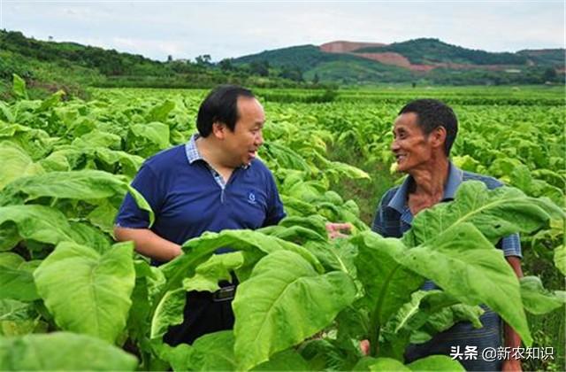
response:
[[[255,98],[251,90],[236,85],[219,85],[212,89],[198,109],[196,116],[198,133],[203,137],[209,136],[212,132],[212,124],[215,122],[221,122],[233,131],[240,115],[238,97]]]

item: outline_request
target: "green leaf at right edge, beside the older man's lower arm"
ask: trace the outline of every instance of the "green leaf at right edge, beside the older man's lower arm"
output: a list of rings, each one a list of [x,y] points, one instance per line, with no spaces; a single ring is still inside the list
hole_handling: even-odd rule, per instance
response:
[[[524,309],[532,314],[547,314],[566,304],[566,291],[548,291],[537,276],[521,278]]]

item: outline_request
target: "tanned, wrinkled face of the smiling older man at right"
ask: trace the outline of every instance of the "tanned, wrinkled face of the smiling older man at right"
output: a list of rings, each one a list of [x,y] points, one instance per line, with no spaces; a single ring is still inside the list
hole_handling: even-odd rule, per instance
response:
[[[410,172],[432,159],[429,136],[417,124],[415,112],[402,113],[394,122],[391,151],[397,159],[399,172]]]

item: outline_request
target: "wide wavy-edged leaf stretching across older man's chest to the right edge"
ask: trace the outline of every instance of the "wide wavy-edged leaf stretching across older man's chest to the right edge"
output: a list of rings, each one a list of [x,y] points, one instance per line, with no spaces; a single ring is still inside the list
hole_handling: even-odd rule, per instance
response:
[[[545,198],[529,198],[523,191],[501,187],[487,190],[478,181],[463,182],[451,203],[440,203],[418,213],[403,240],[418,245],[461,223],[473,223],[495,244],[502,236],[532,232],[551,218],[563,218],[560,208]]]

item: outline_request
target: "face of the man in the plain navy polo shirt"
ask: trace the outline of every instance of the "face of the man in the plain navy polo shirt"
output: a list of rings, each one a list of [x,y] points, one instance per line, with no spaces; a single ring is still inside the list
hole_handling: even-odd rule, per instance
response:
[[[264,107],[256,98],[238,97],[238,116],[233,132],[226,128],[225,145],[233,158],[233,167],[248,165],[256,158],[257,150],[264,143]]]

